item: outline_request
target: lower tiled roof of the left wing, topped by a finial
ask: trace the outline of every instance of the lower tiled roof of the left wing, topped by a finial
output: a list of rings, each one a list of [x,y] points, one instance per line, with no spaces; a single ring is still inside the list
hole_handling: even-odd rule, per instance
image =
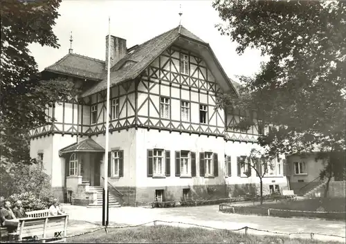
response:
[[[44,71],[75,75],[86,79],[102,79],[104,77],[104,61],[69,53]]]

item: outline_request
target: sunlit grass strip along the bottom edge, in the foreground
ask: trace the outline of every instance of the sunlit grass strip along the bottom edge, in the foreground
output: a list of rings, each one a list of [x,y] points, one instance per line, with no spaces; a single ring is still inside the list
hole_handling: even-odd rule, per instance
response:
[[[283,241],[283,242],[282,242]],[[67,243],[324,243],[310,239],[289,239],[282,236],[246,236],[228,230],[208,230],[202,228],[181,228],[165,225],[109,229],[83,236],[67,238]],[[338,243],[339,242],[328,242]]]

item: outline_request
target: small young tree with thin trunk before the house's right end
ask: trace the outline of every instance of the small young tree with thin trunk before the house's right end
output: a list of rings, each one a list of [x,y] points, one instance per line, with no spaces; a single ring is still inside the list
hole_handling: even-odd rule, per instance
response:
[[[260,201],[263,204],[263,181],[262,179],[268,173],[268,169],[273,169],[273,158],[269,158],[257,149],[251,149],[250,156],[247,160],[240,161],[242,167],[248,166],[248,171],[245,172],[246,176],[251,176],[251,168],[255,170],[256,176],[260,178]]]

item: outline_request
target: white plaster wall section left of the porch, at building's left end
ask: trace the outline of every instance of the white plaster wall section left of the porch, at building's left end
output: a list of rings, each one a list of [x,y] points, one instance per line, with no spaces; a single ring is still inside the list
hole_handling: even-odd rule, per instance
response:
[[[30,140],[30,157],[37,158],[37,153],[44,153],[44,171],[52,176],[53,135]]]

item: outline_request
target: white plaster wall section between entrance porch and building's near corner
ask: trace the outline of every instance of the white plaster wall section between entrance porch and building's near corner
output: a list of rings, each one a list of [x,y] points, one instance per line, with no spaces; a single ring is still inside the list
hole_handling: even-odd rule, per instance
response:
[[[106,147],[106,136],[98,135],[92,137],[95,142],[98,142],[102,147]],[[124,151],[124,176],[120,178],[111,178],[111,182],[114,187],[131,187],[136,185],[136,130],[134,128],[129,131],[122,130],[109,134],[109,151],[111,149],[119,147]],[[106,162],[106,166],[108,162]],[[100,175],[104,176],[104,157],[100,166]],[[101,184],[103,182],[101,178]]]

